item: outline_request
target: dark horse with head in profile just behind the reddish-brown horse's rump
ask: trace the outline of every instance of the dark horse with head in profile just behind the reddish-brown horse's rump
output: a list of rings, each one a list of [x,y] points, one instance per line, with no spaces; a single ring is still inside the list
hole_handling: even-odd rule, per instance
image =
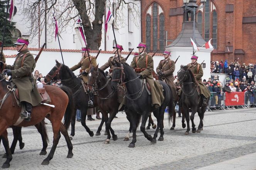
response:
[[[84,92],[83,84],[81,82],[81,79],[77,78],[75,74],[69,69],[68,66],[59,63],[56,60],[56,65],[51,69],[51,71],[45,76],[45,83],[50,81],[59,81],[61,80],[61,83],[64,86],[69,87],[72,90],[74,102],[75,102],[75,110],[79,109],[81,111],[81,124],[86,129],[86,132],[93,137],[94,133],[89,129],[89,127],[86,125],[86,115],[88,108],[88,101],[89,96]],[[97,100],[94,96],[94,107],[97,106]],[[72,117],[71,120],[71,134],[70,138],[74,137],[75,135],[75,124],[76,124],[76,115]]]

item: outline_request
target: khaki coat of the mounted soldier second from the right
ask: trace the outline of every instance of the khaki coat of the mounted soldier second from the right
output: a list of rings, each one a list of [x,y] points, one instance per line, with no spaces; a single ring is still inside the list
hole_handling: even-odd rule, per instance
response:
[[[172,96],[173,100],[177,101],[177,92],[176,92],[176,86],[174,85],[174,76],[173,72],[175,71],[175,62],[172,61],[170,58],[167,60],[163,59],[159,62],[157,67],[157,73],[158,71],[162,71],[164,74],[164,80],[165,83],[167,83],[172,88]]]

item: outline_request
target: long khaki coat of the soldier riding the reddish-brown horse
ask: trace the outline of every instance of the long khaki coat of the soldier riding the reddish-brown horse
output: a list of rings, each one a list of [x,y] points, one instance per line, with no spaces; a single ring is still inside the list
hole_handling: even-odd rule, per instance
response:
[[[25,101],[32,106],[37,106],[43,99],[37,90],[36,80],[32,75],[35,59],[29,50],[18,53],[13,65],[6,65],[5,68],[12,70],[12,81],[19,90],[20,102]]]

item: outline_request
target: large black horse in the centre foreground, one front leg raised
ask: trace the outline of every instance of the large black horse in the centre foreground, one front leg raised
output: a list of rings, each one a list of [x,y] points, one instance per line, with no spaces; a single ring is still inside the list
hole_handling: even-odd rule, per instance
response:
[[[153,110],[151,107],[151,95],[148,94],[147,90],[145,89],[145,84],[141,79],[138,78],[138,75],[134,72],[133,68],[131,68],[127,63],[120,64],[116,62],[115,67],[113,69],[112,74],[112,81],[111,86],[112,89],[116,89],[119,84],[125,84],[126,86],[126,107],[127,111],[126,114],[128,115],[132,130],[133,130],[133,140],[130,143],[129,147],[135,147],[136,142],[136,129],[138,124],[140,123],[140,118],[142,116],[142,122],[140,130],[143,132],[144,136],[151,141],[152,144],[157,142],[157,133],[160,128],[160,137],[158,140],[163,140],[163,116],[165,112],[165,108],[169,106],[170,112],[168,114],[168,120],[170,119],[173,111],[173,101],[172,101],[172,91],[168,84],[159,81],[164,89],[163,96],[165,97],[162,105],[158,108]],[[145,124],[148,119],[148,115],[153,111],[154,116],[157,118],[157,129],[155,131],[154,137],[152,138],[145,131]]]

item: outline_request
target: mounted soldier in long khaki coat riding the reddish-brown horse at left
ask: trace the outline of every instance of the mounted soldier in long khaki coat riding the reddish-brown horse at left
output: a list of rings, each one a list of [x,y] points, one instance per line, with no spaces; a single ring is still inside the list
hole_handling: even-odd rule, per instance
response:
[[[31,119],[32,106],[37,106],[41,101],[34,76],[35,59],[28,50],[29,40],[18,38],[15,43],[19,52],[13,65],[5,65],[7,76],[12,76],[12,81],[19,90],[20,103],[25,106],[25,111],[20,117],[27,121]]]

